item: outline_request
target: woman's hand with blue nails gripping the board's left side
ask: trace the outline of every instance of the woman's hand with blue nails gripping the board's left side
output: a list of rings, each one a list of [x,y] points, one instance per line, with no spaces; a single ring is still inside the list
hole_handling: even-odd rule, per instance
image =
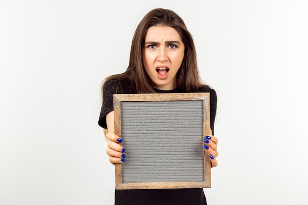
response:
[[[125,148],[120,145],[122,139],[119,136],[115,135],[113,132],[108,132],[106,134],[106,137],[108,139],[108,148],[106,150],[106,153],[109,155],[110,163],[115,165],[115,163],[125,162],[125,154],[123,153],[125,151]]]

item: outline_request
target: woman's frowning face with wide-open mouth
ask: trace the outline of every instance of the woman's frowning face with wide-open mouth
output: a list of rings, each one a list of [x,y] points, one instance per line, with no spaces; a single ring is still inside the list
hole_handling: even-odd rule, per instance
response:
[[[176,88],[176,75],[185,51],[178,31],[167,26],[150,27],[142,51],[143,65],[154,83],[154,88]]]

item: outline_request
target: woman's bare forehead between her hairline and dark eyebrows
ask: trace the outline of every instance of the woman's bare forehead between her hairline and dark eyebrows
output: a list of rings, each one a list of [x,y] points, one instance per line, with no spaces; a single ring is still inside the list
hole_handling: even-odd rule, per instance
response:
[[[145,36],[145,41],[159,41],[159,40],[177,40],[181,41],[181,36],[176,29],[168,26],[153,26],[150,27]]]

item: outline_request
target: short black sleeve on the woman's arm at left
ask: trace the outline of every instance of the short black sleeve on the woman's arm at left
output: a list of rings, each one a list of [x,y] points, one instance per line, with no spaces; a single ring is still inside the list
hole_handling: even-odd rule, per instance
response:
[[[107,129],[106,116],[113,111],[113,94],[117,91],[115,84],[115,80],[109,80],[103,84],[102,88],[103,100],[98,125],[105,129]]]

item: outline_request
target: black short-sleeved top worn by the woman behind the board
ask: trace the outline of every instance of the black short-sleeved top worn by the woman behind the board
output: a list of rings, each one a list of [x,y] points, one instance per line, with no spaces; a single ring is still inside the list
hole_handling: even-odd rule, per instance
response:
[[[103,102],[98,124],[107,129],[106,116],[113,111],[113,94],[130,93],[130,82],[112,79],[103,86]],[[157,93],[181,92],[179,89],[159,90]],[[202,87],[198,92],[210,92],[210,120],[214,134],[217,96],[212,88]],[[195,189],[136,189],[116,190],[115,205],[206,205],[202,188]]]

